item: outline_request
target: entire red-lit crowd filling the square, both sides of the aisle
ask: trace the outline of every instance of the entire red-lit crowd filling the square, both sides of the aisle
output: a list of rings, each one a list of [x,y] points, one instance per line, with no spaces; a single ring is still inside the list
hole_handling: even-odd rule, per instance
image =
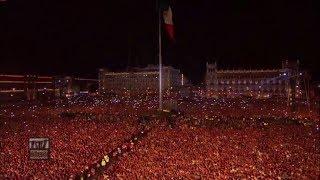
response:
[[[170,98],[170,97],[166,97]],[[87,177],[91,165],[132,143],[100,179],[316,179],[319,116],[282,100],[177,98],[178,113],[153,116],[157,97],[77,97],[0,108],[0,179]],[[141,122],[141,116],[149,116]],[[170,117],[169,117],[170,116]],[[170,121],[168,121],[170,119]],[[50,139],[50,158],[31,160],[28,141]],[[104,162],[105,163],[105,162]],[[80,174],[80,176],[78,176]]]

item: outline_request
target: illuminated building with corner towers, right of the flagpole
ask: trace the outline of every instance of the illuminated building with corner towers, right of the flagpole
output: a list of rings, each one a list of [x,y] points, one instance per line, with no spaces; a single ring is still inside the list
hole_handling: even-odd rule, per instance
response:
[[[239,95],[288,97],[295,91],[297,97],[303,92],[303,73],[298,70],[299,62],[283,61],[282,68],[263,70],[219,70],[216,63],[207,63],[206,90],[208,96]],[[294,87],[290,80],[294,80]]]

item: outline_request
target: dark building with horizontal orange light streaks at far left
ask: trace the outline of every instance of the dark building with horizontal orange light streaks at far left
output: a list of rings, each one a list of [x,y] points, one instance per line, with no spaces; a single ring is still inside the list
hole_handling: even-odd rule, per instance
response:
[[[98,86],[97,79],[0,74],[0,99],[32,101],[66,97],[92,92],[94,86]]]

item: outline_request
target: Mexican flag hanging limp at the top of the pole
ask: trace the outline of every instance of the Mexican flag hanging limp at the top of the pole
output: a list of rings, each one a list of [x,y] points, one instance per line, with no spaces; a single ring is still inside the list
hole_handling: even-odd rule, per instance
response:
[[[170,0],[160,0],[160,12],[162,13],[164,29],[167,32],[170,40],[175,40],[174,25],[172,19],[172,9],[170,7]]]

